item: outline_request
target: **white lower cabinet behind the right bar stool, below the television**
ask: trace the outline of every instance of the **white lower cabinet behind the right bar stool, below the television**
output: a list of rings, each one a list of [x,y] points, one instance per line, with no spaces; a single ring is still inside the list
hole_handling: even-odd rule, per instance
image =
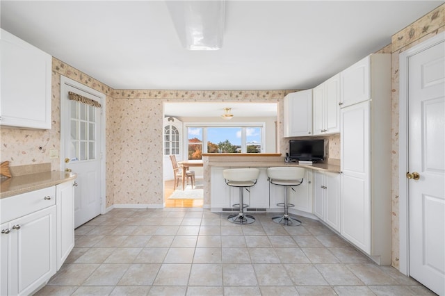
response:
[[[282,208],[277,206],[284,200],[284,186],[270,184],[270,208]],[[287,202],[294,204],[295,207],[290,208],[298,211],[312,213],[312,172],[306,170],[303,183],[299,186],[291,186]]]

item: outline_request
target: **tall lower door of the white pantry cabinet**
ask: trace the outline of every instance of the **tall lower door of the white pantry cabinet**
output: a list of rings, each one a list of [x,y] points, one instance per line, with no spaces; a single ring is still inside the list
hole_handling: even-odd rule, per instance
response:
[[[370,110],[365,101],[341,109],[341,235],[371,252]]]

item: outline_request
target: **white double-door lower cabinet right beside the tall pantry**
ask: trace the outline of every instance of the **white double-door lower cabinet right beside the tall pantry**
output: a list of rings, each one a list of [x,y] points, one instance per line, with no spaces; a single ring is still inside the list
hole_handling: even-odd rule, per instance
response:
[[[340,231],[340,174],[314,172],[314,215]]]

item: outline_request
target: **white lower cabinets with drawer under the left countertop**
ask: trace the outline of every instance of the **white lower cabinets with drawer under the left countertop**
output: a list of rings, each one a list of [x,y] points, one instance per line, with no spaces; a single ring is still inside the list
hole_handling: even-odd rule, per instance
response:
[[[72,181],[5,197],[0,209],[0,295],[31,295],[74,247]]]

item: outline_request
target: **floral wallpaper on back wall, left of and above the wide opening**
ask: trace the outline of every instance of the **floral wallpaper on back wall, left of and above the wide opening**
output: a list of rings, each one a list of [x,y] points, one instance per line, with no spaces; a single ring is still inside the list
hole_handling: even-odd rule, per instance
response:
[[[107,157],[113,158],[113,204],[163,205],[164,101],[282,101],[289,92],[113,90],[113,99],[107,102],[113,138],[112,147],[107,147]]]

